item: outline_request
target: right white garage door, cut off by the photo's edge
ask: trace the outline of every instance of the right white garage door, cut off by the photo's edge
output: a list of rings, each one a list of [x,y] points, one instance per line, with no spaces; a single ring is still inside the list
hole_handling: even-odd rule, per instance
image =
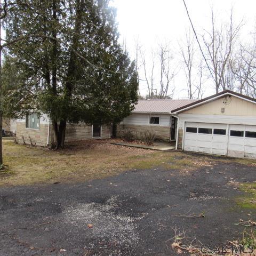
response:
[[[228,156],[256,159],[256,125],[230,124]]]

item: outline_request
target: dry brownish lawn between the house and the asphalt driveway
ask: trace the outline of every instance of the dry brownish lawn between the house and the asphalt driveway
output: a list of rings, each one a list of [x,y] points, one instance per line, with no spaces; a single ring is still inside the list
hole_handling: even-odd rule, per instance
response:
[[[204,155],[195,159],[183,152],[110,145],[109,140],[81,141],[60,151],[3,140],[3,152],[5,170],[0,172],[0,186],[101,179],[129,169],[162,167],[188,172],[217,162]]]

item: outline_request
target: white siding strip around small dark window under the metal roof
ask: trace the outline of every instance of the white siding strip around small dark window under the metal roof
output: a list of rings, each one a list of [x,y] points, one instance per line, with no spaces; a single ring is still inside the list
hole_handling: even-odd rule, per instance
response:
[[[160,117],[159,125],[149,124],[149,117],[156,116]],[[171,125],[171,115],[154,115],[154,114],[132,114],[124,118],[121,124],[129,125],[153,125],[153,126],[170,126]]]

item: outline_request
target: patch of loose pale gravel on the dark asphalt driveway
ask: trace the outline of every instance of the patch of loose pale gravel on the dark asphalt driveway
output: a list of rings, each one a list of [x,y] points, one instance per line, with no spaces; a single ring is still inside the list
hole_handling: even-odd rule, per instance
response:
[[[124,245],[128,249],[139,242],[135,221],[139,218],[129,217],[124,214],[113,214],[118,207],[118,196],[112,196],[104,204],[89,203],[77,204],[68,207],[62,212],[60,220],[68,222],[72,227],[91,228],[90,236],[101,241],[112,241]],[[91,244],[87,249],[93,248]]]

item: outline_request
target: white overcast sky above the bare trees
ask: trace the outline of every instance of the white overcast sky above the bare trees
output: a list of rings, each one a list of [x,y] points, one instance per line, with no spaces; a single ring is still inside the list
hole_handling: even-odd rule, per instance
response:
[[[217,14],[217,21],[228,21],[230,9],[234,10],[234,21],[244,19],[241,41],[246,41],[255,28],[255,0],[186,0],[190,17],[198,33],[211,26],[211,7]],[[134,58],[137,37],[146,52],[155,49],[158,42],[170,42],[175,61],[179,62],[179,43],[184,40],[186,30],[190,28],[182,0],[113,0],[117,8],[117,22],[121,42],[126,42],[126,49]],[[143,78],[142,72],[140,77]],[[158,83],[157,81],[155,81]],[[174,98],[186,98],[186,79],[180,70],[174,80]],[[146,85],[140,84],[140,90],[146,94]],[[204,96],[214,93],[214,86],[205,84]]]

